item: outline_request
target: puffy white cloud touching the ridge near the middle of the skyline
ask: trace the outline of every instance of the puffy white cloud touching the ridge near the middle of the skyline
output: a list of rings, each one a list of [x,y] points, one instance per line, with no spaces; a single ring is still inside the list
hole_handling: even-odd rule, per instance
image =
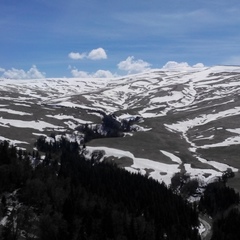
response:
[[[118,68],[130,73],[139,73],[150,69],[151,64],[142,59],[134,60],[134,57],[128,57],[126,60],[118,63]]]

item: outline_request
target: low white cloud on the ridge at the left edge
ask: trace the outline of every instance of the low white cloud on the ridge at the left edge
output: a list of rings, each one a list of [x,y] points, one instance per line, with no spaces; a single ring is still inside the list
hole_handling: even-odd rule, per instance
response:
[[[4,69],[3,69],[4,70]],[[33,65],[28,71],[23,69],[11,68],[2,71],[1,77],[9,79],[40,79],[45,78],[45,73],[40,72],[35,65]]]

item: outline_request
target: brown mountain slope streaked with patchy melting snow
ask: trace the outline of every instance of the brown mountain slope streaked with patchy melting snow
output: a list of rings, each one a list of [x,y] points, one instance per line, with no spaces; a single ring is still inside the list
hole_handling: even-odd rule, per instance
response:
[[[101,147],[129,171],[166,183],[180,170],[210,180],[232,168],[238,179],[239,96],[235,66],[155,69],[115,79],[1,79],[0,140],[28,148],[38,135],[99,123],[102,112],[139,115],[142,131],[95,139],[89,151]]]

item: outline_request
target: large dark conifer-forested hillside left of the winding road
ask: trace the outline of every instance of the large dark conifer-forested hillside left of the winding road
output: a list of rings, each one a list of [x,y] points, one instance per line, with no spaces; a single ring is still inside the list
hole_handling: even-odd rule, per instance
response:
[[[41,160],[0,144],[1,239],[200,239],[196,209],[164,184],[59,146]]]

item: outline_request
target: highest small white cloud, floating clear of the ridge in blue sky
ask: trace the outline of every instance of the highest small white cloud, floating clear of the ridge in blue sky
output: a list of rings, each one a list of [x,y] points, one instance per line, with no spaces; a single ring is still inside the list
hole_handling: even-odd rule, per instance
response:
[[[107,54],[103,48],[96,48],[91,50],[89,53],[70,52],[68,54],[68,57],[73,60],[80,60],[84,58],[88,58],[91,60],[100,60],[107,59]]]

